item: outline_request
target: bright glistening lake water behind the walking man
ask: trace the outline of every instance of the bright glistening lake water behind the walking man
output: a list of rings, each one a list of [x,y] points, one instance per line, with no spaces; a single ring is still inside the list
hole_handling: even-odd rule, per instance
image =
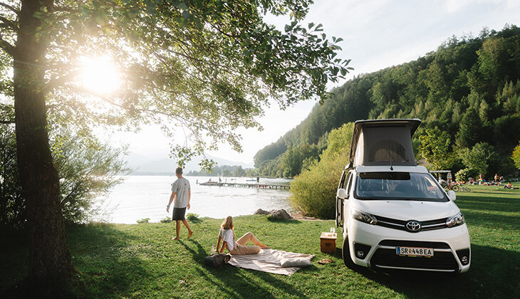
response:
[[[214,182],[218,177],[186,177],[192,189],[191,209],[186,213],[198,214],[201,217],[224,218],[228,215],[239,216],[253,214],[257,209],[286,209],[291,211],[287,190],[254,189],[236,187],[201,186],[196,184]],[[102,204],[106,216],[95,220],[103,220],[120,224],[135,224],[138,219],[150,218],[150,222],[158,222],[165,217],[172,217],[166,211],[170,199],[171,184],[175,176],[129,176],[122,184],[114,187]],[[247,182],[245,177],[222,177],[222,181],[255,184]],[[288,179],[260,179],[261,184],[286,184]]]

